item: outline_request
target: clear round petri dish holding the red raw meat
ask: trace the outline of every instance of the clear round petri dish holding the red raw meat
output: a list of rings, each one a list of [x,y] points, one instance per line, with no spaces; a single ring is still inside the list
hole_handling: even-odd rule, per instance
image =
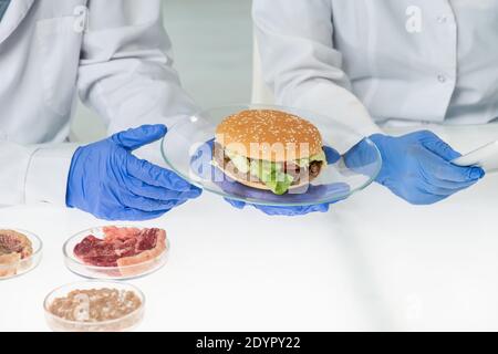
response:
[[[122,226],[122,225],[117,227],[135,228],[133,226]],[[160,254],[141,263],[122,267],[100,267],[84,263],[74,254],[75,246],[90,235],[103,239],[105,237],[104,228],[105,227],[95,227],[80,231],[73,237],[71,237],[68,241],[65,241],[63,246],[63,253],[65,266],[70,271],[87,279],[127,280],[145,277],[147,274],[157,271],[164,264],[166,264],[169,254],[169,240],[167,238],[166,238],[166,249]]]

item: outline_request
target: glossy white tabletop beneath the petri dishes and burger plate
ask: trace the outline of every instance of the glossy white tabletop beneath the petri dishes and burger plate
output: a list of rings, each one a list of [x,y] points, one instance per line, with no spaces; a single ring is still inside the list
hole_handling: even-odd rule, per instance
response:
[[[498,138],[498,125],[435,131],[463,152]],[[48,206],[0,210],[0,226],[45,243],[39,268],[0,281],[0,331],[48,330],[45,294],[81,280],[64,268],[62,243],[102,223]],[[427,207],[373,185],[300,218],[205,194],[138,226],[165,228],[172,241],[164,269],[131,281],[147,296],[138,330],[498,330],[498,175]]]

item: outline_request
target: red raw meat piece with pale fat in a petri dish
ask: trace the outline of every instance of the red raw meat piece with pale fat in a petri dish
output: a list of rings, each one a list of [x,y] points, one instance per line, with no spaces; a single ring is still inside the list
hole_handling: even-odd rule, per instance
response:
[[[166,251],[166,231],[104,227],[104,238],[86,236],[74,247],[74,256],[85,264],[118,268],[122,275],[133,275],[146,270],[139,266],[154,261]]]

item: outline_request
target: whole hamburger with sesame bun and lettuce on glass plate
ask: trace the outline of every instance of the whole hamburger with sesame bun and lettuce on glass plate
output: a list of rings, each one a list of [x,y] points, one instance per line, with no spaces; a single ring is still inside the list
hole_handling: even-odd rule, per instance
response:
[[[320,132],[307,119],[248,110],[218,125],[212,164],[242,185],[283,195],[315,179],[326,159]]]

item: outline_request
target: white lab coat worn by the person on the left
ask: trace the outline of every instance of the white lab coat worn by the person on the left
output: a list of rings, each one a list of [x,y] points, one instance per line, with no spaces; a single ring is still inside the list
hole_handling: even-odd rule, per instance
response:
[[[195,110],[160,0],[12,0],[0,22],[0,205],[65,205],[76,94],[110,133]]]

